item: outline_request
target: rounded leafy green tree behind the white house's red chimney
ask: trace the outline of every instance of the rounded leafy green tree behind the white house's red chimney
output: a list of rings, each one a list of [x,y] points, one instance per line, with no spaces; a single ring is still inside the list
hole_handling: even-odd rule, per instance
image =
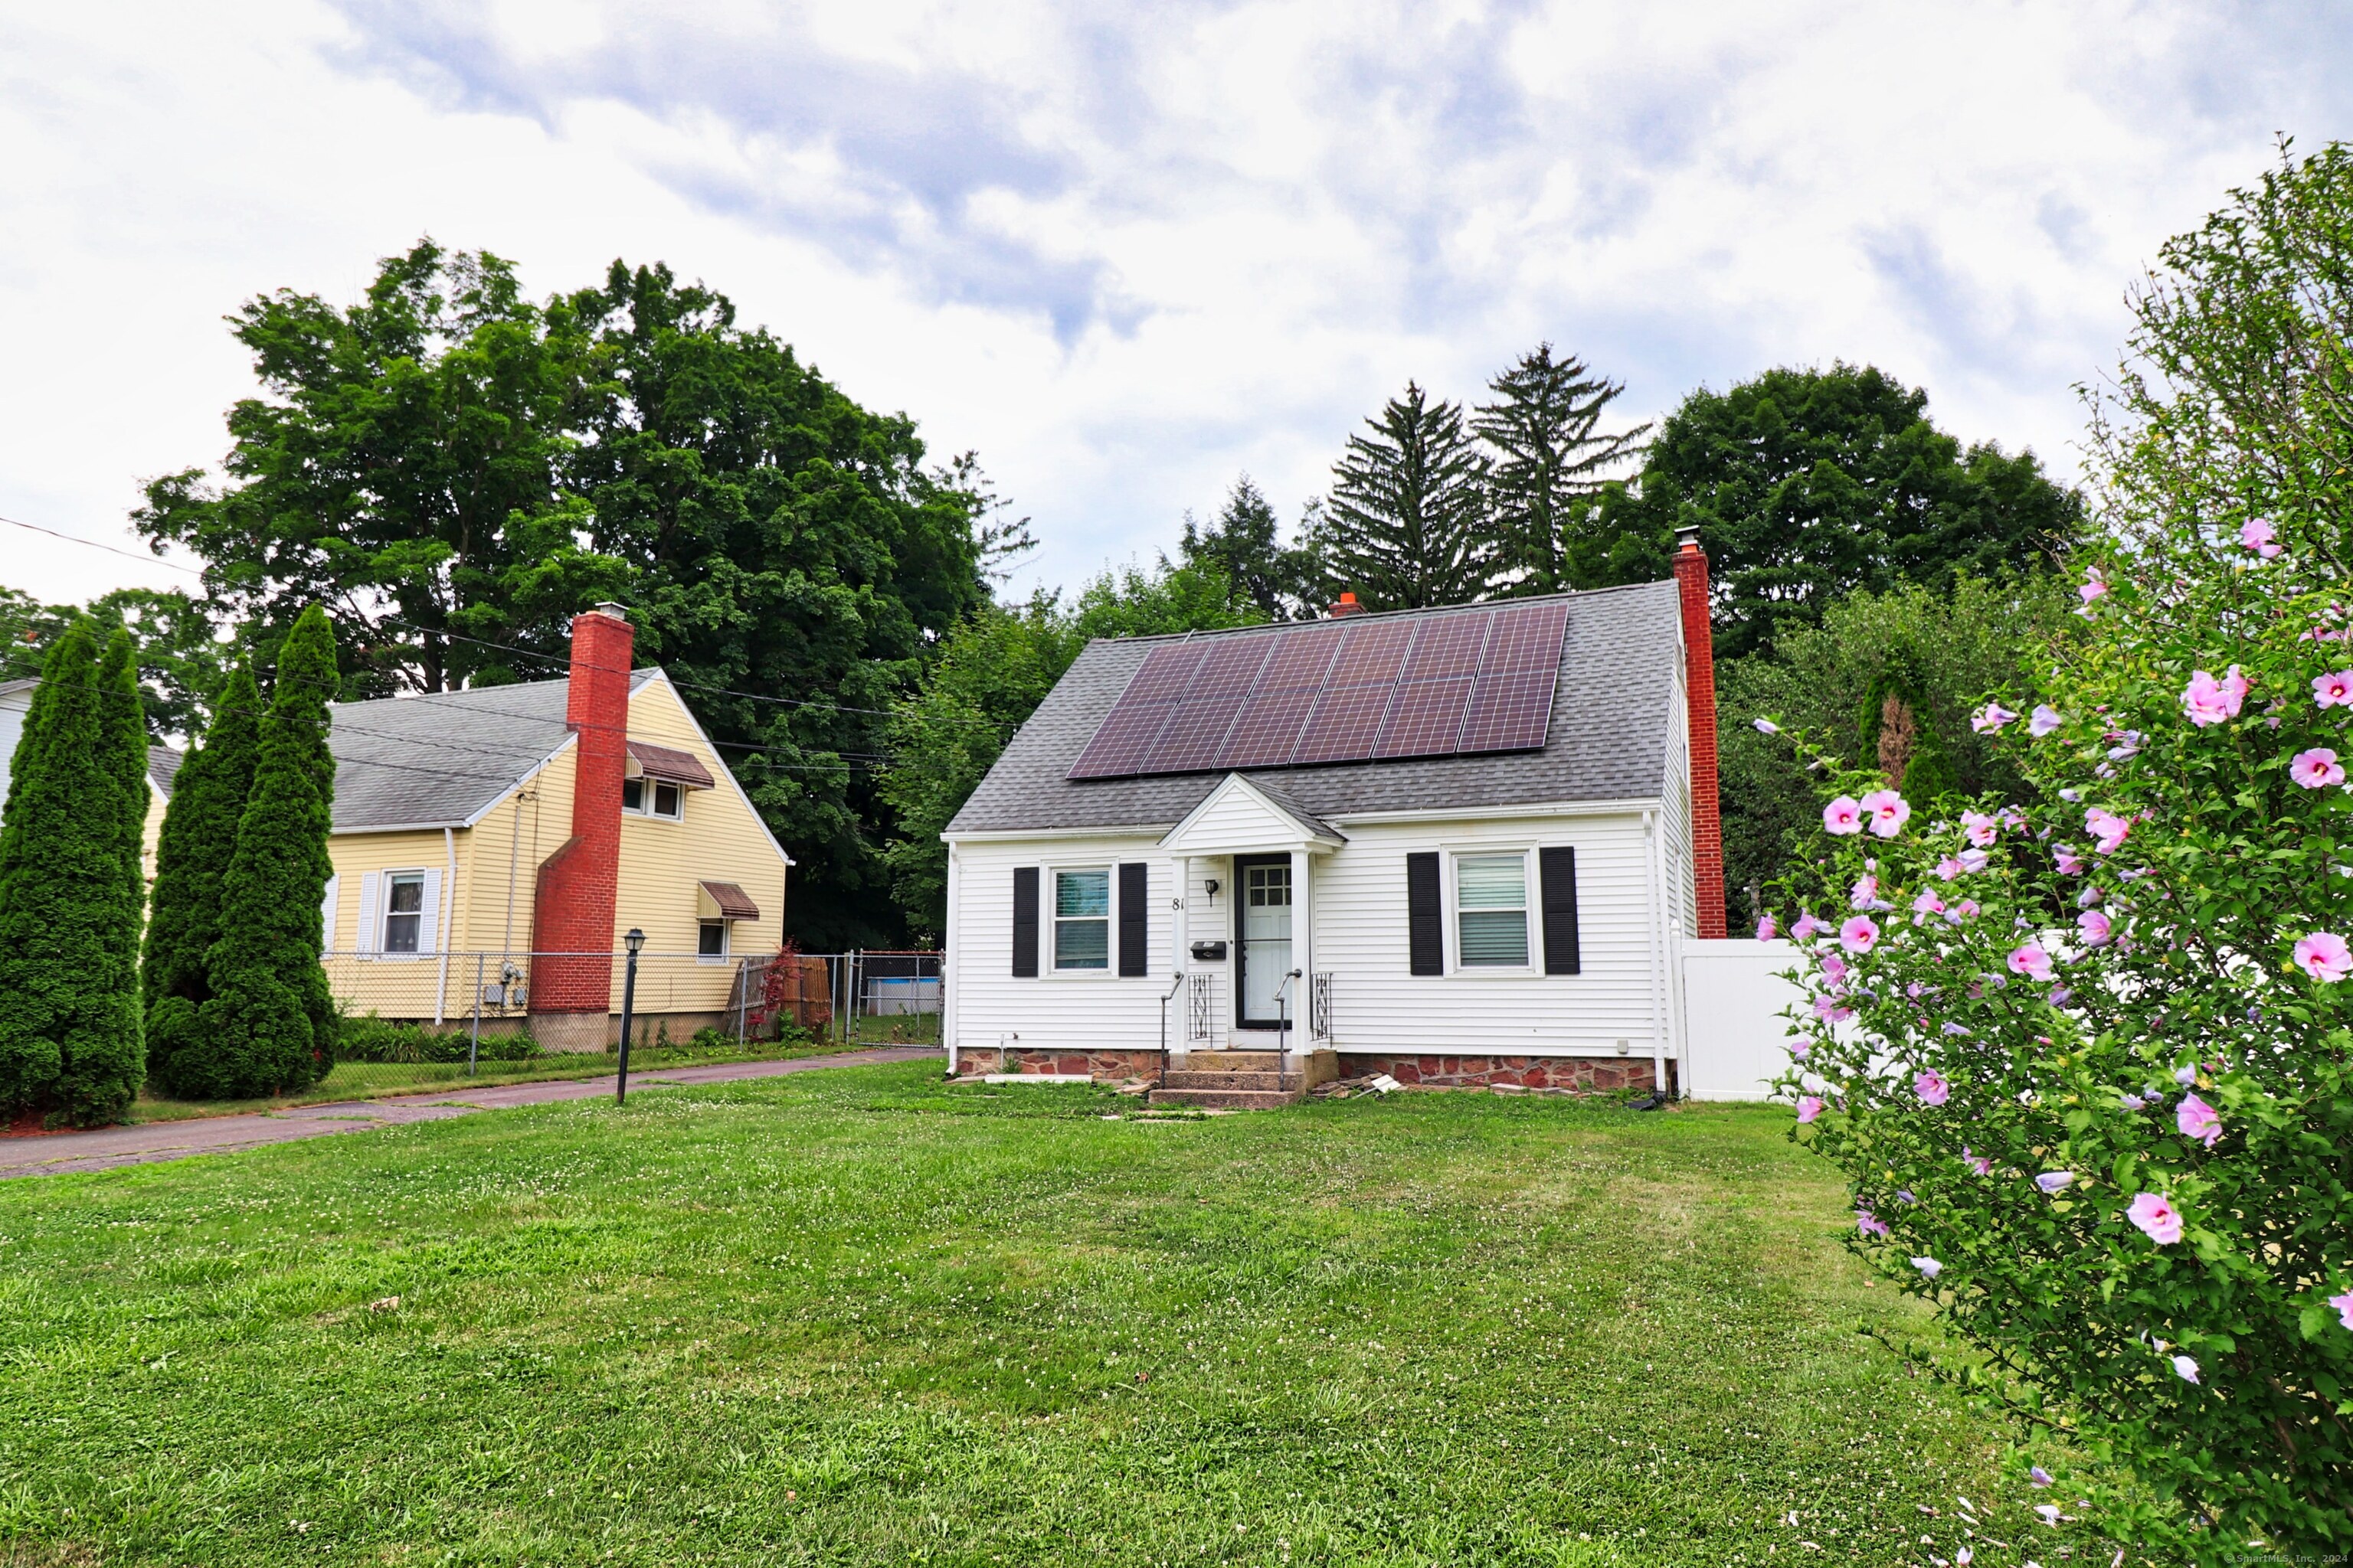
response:
[[[1833,364],[1685,397],[1642,473],[1602,491],[1572,550],[1577,585],[1668,576],[1685,524],[1715,574],[1715,651],[1741,656],[1854,590],[2049,569],[2082,501],[2031,451],[1962,449],[1929,423],[1927,393]]]

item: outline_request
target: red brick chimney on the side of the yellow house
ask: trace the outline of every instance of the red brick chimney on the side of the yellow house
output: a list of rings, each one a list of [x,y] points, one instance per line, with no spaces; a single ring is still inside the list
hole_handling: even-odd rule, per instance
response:
[[[534,1032],[551,1048],[600,1051],[612,1011],[614,903],[621,882],[621,776],[628,769],[628,668],[635,637],[619,604],[572,616],[572,837],[539,863],[532,947]],[[551,1016],[541,1023],[541,1016]],[[562,1027],[560,1018],[576,1018]],[[553,1039],[548,1034],[562,1037]],[[572,1039],[579,1034],[579,1039]]]

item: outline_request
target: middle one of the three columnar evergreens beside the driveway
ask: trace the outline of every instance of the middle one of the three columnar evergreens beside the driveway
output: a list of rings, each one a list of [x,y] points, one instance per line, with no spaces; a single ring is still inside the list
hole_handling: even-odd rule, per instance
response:
[[[155,846],[155,896],[139,980],[148,1074],[174,1095],[195,1093],[181,1084],[174,1060],[193,1046],[198,1009],[212,997],[205,959],[221,938],[221,879],[238,851],[259,736],[261,693],[254,672],[238,668],[221,686],[205,743],[179,764]]]

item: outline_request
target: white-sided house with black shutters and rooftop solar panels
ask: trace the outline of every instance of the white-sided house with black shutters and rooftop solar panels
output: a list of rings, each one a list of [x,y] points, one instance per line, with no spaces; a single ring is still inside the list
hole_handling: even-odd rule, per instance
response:
[[[1685,541],[1668,583],[1089,644],[944,835],[951,1072],[1687,1084],[1689,964],[1760,954],[1706,599]]]

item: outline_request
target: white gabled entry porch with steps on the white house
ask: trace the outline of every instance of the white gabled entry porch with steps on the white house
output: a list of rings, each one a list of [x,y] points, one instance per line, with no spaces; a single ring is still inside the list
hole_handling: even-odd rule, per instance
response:
[[[1155,1098],[1275,1105],[1339,1074],[1332,973],[1315,954],[1315,872],[1346,842],[1242,773],[1160,839],[1181,889],[1184,1027]]]

